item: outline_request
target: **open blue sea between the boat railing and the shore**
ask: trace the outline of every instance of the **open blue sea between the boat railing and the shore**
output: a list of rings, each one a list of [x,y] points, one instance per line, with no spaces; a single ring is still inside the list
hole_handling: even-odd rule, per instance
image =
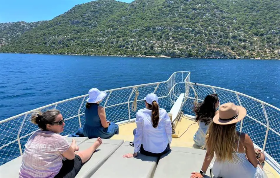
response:
[[[280,60],[0,54],[0,120],[74,96],[167,80],[235,90],[280,108]]]

